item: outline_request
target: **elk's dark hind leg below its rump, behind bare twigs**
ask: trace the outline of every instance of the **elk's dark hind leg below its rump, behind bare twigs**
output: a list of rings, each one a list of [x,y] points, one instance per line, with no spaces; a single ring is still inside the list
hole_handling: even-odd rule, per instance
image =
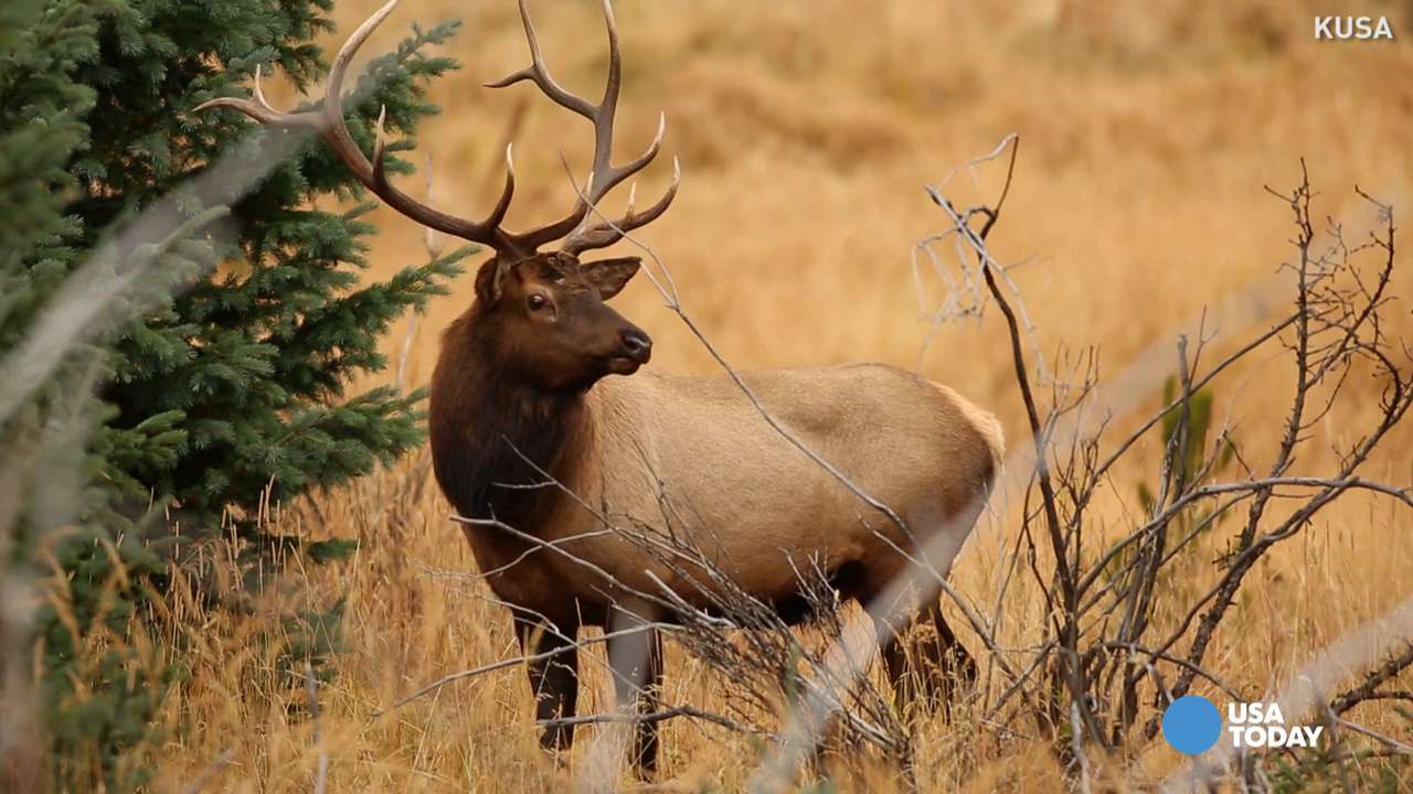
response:
[[[913,630],[927,624],[931,624],[931,632]],[[955,684],[969,685],[976,680],[976,663],[942,617],[942,603],[935,593],[911,622],[885,641],[883,665],[904,712],[918,698],[928,711],[947,708]]]

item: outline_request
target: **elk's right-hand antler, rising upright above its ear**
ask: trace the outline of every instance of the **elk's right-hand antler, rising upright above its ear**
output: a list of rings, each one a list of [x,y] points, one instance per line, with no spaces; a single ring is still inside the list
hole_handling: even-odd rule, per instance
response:
[[[622,58],[619,55],[617,23],[613,20],[613,6],[603,0],[603,21],[609,31],[609,75],[603,86],[603,99],[599,105],[591,105],[584,97],[575,96],[564,89],[544,64],[544,54],[540,51],[540,41],[536,38],[534,23],[530,21],[530,10],[526,0],[520,0],[520,20],[526,28],[526,41],[530,44],[530,65],[519,72],[506,75],[499,81],[486,83],[487,88],[504,88],[520,81],[531,81],[557,105],[584,116],[593,124],[593,170],[589,172],[589,184],[575,202],[569,215],[534,232],[527,232],[524,240],[531,249],[565,237],[561,250],[578,256],[591,249],[602,249],[616,243],[625,233],[656,220],[667,211],[673,199],[677,198],[677,185],[681,182],[681,167],[673,158],[673,184],[663,194],[663,198],[642,215],[633,212],[633,202],[629,199],[627,212],[617,222],[603,220],[589,223],[589,209],[598,206],[609,191],[623,179],[637,174],[657,157],[657,150],[663,146],[663,134],[667,131],[666,114],[657,119],[657,134],[647,151],[636,160],[613,165],[613,116],[617,110],[619,85],[622,82]]]

